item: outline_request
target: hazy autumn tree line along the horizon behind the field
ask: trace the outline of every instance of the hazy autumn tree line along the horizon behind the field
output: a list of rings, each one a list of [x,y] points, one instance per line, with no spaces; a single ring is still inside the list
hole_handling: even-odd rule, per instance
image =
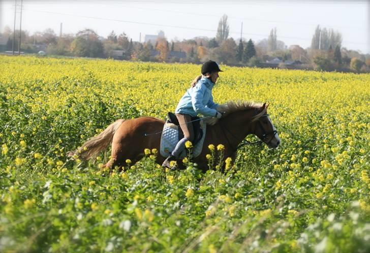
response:
[[[21,32],[21,50],[25,53],[37,53],[44,48],[50,55],[79,57],[115,58],[141,61],[191,62],[199,64],[208,59],[233,66],[259,66],[298,69],[318,69],[325,71],[370,70],[370,55],[342,47],[342,35],[333,29],[318,25],[312,37],[310,48],[299,45],[289,48],[278,40],[276,27],[270,30],[266,39],[258,42],[240,38],[229,38],[228,17],[221,17],[214,38],[196,37],[190,40],[168,41],[159,37],[156,41],[140,43],[129,38],[124,31],[117,34],[114,30],[106,37],[99,36],[92,29],[78,31],[76,35],[57,36],[48,28],[33,35],[25,30]],[[2,37],[8,42],[2,50],[12,50],[13,31],[6,27]],[[18,44],[19,30],[15,30],[14,44]],[[177,52],[177,53],[174,53]],[[179,54],[178,52],[182,52]],[[271,59],[280,62],[277,66],[269,65]],[[293,64],[292,64],[293,62]]]

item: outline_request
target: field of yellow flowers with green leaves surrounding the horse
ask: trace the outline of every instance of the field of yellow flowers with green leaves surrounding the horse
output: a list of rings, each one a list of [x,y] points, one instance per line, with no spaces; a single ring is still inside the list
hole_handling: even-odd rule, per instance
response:
[[[109,174],[109,149],[67,151],[165,118],[200,66],[0,56],[2,252],[369,252],[370,75],[221,67],[214,101],[270,102],[278,149],[244,146],[227,173],[146,150]]]

